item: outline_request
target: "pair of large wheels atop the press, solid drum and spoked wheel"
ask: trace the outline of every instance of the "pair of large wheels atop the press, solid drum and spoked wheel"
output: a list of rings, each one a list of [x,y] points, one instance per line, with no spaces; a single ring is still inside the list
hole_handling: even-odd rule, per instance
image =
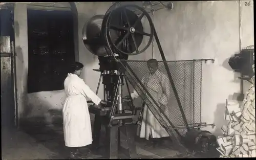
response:
[[[134,10],[141,11],[138,16]],[[150,24],[150,32],[144,31],[142,17]],[[139,48],[144,36],[148,36],[145,47]],[[87,49],[97,55],[111,53],[137,55],[144,52],[151,44],[154,26],[150,15],[136,5],[111,7],[106,14],[96,15],[86,22],[82,30],[82,38]]]

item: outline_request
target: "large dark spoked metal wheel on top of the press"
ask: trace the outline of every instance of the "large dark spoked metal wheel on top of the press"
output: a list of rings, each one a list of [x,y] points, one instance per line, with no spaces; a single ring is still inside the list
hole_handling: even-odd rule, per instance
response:
[[[138,16],[134,11],[140,11]],[[146,17],[150,32],[144,32],[142,18]],[[141,7],[136,5],[126,5],[115,8],[106,13],[102,27],[105,40],[108,41],[109,48],[116,53],[126,55],[138,55],[144,52],[152,43],[154,36],[154,26],[150,15]],[[118,32],[118,36],[113,36],[113,33]],[[140,49],[143,37],[148,36],[148,41],[145,46]]]

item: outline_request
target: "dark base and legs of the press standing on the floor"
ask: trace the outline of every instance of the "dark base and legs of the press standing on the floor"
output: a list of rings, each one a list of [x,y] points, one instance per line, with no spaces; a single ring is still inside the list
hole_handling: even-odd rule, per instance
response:
[[[122,120],[126,123],[132,122],[132,119]],[[106,143],[104,145],[106,158],[119,158],[119,154],[124,154],[127,158],[136,158],[137,150],[134,138],[136,136],[136,126],[133,124],[119,125],[118,120],[114,120],[112,126],[108,126],[108,117],[95,115],[94,133],[93,133],[93,146],[98,149],[100,145],[100,130],[101,125],[105,126],[106,130]],[[126,148],[121,146],[120,136],[125,136]]]

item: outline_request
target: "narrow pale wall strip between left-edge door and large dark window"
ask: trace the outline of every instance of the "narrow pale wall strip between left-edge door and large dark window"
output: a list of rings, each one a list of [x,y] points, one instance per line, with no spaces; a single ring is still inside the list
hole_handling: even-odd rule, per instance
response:
[[[15,51],[16,51],[16,84],[18,117],[22,117],[27,105],[28,77],[28,24],[27,5],[18,4],[14,8]]]

